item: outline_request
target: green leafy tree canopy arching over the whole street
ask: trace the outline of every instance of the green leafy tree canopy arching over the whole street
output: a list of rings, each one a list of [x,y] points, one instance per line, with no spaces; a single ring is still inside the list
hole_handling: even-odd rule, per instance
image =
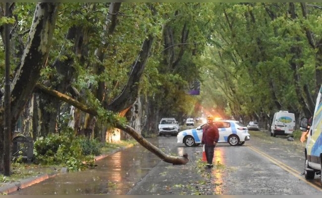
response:
[[[13,2],[8,16],[4,7],[0,121],[7,24],[11,128],[21,118],[34,139],[61,126],[102,141],[115,126],[154,134],[161,117],[201,109],[266,126],[277,110],[311,116],[322,84],[321,3]],[[188,94],[194,81],[200,95]]]

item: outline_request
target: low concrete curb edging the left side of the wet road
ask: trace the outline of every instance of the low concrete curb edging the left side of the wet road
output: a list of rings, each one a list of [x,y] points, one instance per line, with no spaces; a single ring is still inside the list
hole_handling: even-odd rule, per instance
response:
[[[121,148],[116,148],[114,150],[111,150],[110,152],[108,152],[107,154],[103,154],[103,155],[99,155],[99,156],[95,156],[94,160],[100,160],[103,159],[104,157],[107,157],[108,155],[114,154],[115,152],[118,152],[120,150],[124,150],[126,148],[131,148],[133,147],[133,144],[130,144],[128,146],[125,147],[121,147]],[[14,182],[14,183],[10,183],[7,185],[4,185],[2,187],[0,187],[0,195],[7,195],[9,193],[15,192],[15,191],[19,191],[23,188],[29,187],[31,185],[37,184],[39,182],[42,182],[44,180],[47,180],[49,178],[55,177],[56,175],[58,175],[60,173],[52,173],[52,174],[40,174],[34,177],[30,177],[30,178],[26,178],[26,179],[22,179],[19,182]]]

